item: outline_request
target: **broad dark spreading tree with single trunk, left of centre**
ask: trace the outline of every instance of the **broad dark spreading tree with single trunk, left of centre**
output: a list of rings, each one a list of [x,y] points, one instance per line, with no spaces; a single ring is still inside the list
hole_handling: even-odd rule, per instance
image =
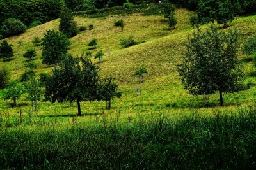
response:
[[[97,99],[99,67],[90,59],[73,58],[68,55],[60,68],[52,71],[45,82],[45,97],[52,103],[58,101],[76,101],[78,115],[81,116],[81,101]]]

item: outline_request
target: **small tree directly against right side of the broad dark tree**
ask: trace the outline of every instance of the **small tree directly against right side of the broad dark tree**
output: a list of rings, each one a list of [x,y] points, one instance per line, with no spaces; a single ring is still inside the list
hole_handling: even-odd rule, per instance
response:
[[[113,82],[115,78],[112,76],[100,80],[98,87],[98,100],[106,102],[106,109],[111,109],[111,100],[115,97],[121,97],[121,92],[118,92],[118,85]]]

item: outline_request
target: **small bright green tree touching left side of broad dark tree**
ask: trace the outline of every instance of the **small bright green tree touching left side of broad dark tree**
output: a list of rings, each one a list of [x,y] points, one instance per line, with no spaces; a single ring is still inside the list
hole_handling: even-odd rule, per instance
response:
[[[35,77],[29,78],[26,83],[24,83],[24,92],[26,92],[26,98],[31,101],[32,111],[37,110],[37,102],[40,101],[44,90],[40,80],[37,80]]]

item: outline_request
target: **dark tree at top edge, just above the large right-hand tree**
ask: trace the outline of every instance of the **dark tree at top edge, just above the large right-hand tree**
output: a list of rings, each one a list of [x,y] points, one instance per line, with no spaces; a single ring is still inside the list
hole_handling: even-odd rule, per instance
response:
[[[234,19],[234,10],[230,0],[218,1],[218,8],[216,9],[216,20],[218,24],[224,24],[227,27],[227,22]]]

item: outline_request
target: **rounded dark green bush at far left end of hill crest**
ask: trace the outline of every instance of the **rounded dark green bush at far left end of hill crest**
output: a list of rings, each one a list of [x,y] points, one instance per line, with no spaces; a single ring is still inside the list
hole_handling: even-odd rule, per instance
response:
[[[15,18],[4,20],[3,26],[1,27],[1,33],[4,37],[19,35],[25,31],[26,25]]]

